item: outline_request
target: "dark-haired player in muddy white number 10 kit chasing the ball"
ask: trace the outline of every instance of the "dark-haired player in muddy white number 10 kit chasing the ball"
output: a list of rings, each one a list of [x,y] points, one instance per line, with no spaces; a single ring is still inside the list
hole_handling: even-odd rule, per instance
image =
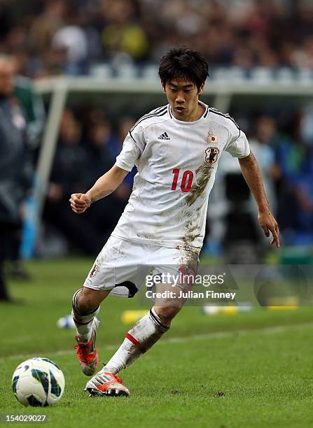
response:
[[[134,124],[116,164],[87,193],[71,195],[71,209],[84,213],[95,201],[114,192],[137,166],[125,211],[83,288],[73,297],[77,355],[83,373],[88,376],[95,373],[99,363],[95,345],[97,314],[110,292],[127,290],[127,297],[132,297],[141,285],[144,265],[154,266],[154,273],[160,273],[169,264],[196,271],[209,192],[222,150],[238,158],[258,205],[260,226],[265,236],[272,233],[272,243],[279,247],[277,222],[244,132],[232,117],[199,100],[207,75],[207,62],[199,52],[172,48],[162,57],[159,69],[168,104]],[[184,301],[178,296],[184,287],[183,283],[171,287],[175,297],[153,306],[127,332],[113,357],[88,381],[85,391],[90,396],[130,395],[117,375],[169,329],[183,306]]]

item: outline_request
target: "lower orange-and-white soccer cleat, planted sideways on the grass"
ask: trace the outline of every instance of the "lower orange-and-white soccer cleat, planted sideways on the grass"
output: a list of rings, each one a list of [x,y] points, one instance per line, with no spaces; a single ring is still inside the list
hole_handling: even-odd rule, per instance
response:
[[[130,391],[123,380],[109,371],[99,371],[92,379],[88,380],[85,391],[89,397],[129,397]]]

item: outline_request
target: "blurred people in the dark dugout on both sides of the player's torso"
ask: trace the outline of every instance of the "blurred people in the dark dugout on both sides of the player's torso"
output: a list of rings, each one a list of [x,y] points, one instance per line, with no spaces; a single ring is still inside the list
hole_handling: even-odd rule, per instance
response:
[[[143,112],[144,113],[144,112]],[[267,197],[277,215],[282,242],[313,243],[313,120],[310,108],[274,113],[235,112],[263,173]],[[76,107],[64,111],[48,187],[44,219],[67,239],[69,248],[96,254],[111,234],[132,191],[132,171],[118,190],[84,215],[69,210],[69,196],[85,192],[115,162],[133,117],[108,120],[104,110]],[[263,242],[256,204],[236,159],[223,153],[208,218],[209,246],[238,241]],[[218,226],[221,225],[221,227]]]

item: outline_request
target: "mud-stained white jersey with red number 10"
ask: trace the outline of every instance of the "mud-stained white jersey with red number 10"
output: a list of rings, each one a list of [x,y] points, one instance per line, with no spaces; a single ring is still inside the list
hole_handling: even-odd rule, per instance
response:
[[[195,122],[177,120],[167,105],[130,130],[116,165],[138,173],[113,236],[200,252],[221,152],[241,158],[250,149],[229,115],[199,102],[205,111]]]

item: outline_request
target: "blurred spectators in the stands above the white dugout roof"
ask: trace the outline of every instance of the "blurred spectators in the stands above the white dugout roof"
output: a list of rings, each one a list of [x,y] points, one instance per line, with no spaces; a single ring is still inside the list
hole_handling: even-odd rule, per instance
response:
[[[191,45],[211,66],[313,68],[311,0],[1,0],[0,50],[32,78],[158,62]]]

